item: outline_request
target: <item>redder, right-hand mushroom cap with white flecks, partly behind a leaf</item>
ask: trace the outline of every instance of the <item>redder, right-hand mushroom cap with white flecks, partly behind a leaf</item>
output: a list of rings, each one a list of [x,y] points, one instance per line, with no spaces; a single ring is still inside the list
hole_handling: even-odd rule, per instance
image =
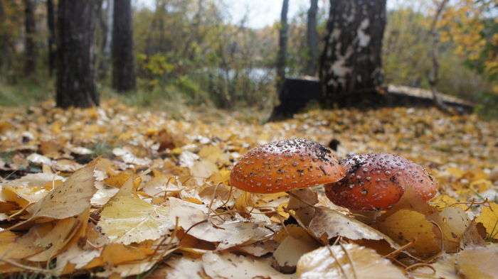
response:
[[[369,153],[341,160],[346,176],[325,185],[334,204],[354,210],[388,209],[411,187],[424,202],[435,196],[437,185],[425,169],[398,155]]]

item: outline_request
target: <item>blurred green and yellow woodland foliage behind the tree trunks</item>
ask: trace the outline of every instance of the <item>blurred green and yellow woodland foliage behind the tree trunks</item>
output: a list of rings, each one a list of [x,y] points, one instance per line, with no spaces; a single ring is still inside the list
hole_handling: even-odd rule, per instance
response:
[[[271,108],[277,99],[275,68],[282,23],[277,20],[254,28],[248,25],[250,11],[238,14],[240,20],[235,21],[228,9],[232,1],[236,0],[132,1],[129,20],[136,86],[132,84],[134,89],[127,94],[112,89],[112,0],[95,1],[91,24],[95,26],[92,59],[97,91],[102,97],[137,106]],[[57,2],[0,1],[0,106],[53,99]],[[278,2],[275,7],[280,13],[282,1]],[[431,36],[437,33],[438,91],[475,102],[482,114],[496,117],[498,1],[443,2],[447,3],[433,29],[441,1],[388,5],[382,48],[384,83],[429,88]],[[292,0],[287,3],[296,5]],[[310,3],[287,18],[286,77],[317,76],[329,1]],[[310,43],[310,17],[316,18],[312,28],[318,34],[317,43]]]

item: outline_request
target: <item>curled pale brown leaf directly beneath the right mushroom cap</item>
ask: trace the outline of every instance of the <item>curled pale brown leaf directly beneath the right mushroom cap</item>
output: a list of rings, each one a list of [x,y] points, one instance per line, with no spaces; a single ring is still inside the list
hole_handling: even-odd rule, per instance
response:
[[[398,248],[396,242],[390,239],[389,236],[361,221],[327,207],[317,207],[316,210],[317,212],[309,223],[308,229],[320,241],[326,242],[336,236],[343,236],[351,240],[385,240],[391,247]]]

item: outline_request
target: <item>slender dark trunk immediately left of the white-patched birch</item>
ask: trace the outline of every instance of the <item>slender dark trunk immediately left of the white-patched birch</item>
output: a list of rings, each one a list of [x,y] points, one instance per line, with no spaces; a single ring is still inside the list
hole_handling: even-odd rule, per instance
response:
[[[317,31],[317,13],[318,13],[318,0],[311,0],[311,5],[308,10],[308,24],[307,24],[307,45],[308,45],[308,62],[306,67],[306,74],[314,76],[317,74],[318,65],[318,31]]]

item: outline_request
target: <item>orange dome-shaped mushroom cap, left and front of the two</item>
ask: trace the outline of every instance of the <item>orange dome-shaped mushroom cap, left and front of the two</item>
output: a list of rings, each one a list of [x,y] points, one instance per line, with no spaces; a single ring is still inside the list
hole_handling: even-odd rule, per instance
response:
[[[251,149],[233,167],[230,183],[248,192],[274,193],[336,182],[344,174],[328,148],[293,138]]]

